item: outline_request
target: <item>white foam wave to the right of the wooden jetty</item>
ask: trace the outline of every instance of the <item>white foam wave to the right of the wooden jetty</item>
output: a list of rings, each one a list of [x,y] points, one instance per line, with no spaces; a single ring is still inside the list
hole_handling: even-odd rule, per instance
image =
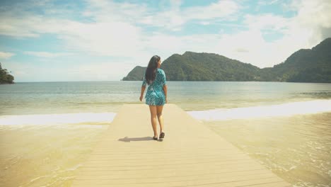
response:
[[[209,111],[188,111],[198,120],[233,120],[313,114],[331,111],[331,100],[302,101],[272,106],[222,108]]]

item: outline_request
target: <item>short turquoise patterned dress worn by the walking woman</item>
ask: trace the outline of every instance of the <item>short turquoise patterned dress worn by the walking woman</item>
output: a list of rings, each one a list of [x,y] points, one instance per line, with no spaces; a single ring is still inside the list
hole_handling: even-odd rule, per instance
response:
[[[146,73],[146,72],[145,72]],[[146,78],[144,74],[142,86],[146,86]],[[163,86],[166,84],[165,73],[162,69],[156,70],[156,77],[146,92],[146,104],[151,106],[163,106],[165,104],[165,94]]]

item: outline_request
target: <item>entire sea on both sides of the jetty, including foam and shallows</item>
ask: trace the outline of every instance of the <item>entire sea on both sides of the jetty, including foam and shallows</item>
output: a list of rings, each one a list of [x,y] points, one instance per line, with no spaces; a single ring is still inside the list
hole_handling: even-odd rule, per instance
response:
[[[167,84],[168,103],[281,179],[331,186],[331,84]],[[141,81],[0,85],[1,186],[71,186],[121,106],[144,103],[140,91]]]

